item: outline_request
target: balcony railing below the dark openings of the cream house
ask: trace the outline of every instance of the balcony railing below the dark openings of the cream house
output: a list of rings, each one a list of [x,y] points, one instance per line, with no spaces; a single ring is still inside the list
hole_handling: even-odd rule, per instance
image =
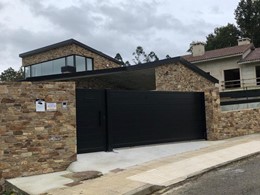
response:
[[[260,77],[255,77],[250,79],[221,81],[222,91],[237,90],[237,89],[247,90],[251,88],[260,88]]]

